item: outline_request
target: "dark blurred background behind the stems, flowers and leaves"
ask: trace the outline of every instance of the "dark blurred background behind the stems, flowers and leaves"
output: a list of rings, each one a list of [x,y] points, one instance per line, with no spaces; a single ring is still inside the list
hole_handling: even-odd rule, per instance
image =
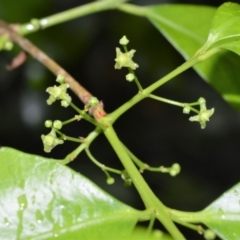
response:
[[[2,0],[0,18],[11,23],[25,23],[76,7],[88,1]],[[139,5],[191,3],[219,6],[224,1],[147,1]],[[118,11],[106,11],[76,19],[28,36],[38,47],[55,59],[99,99],[111,112],[136,94],[136,86],[124,80],[126,70],[114,70],[115,47],[127,35],[129,48],[140,65],[136,71],[143,86],[180,65],[184,60],[161,34],[146,20]],[[8,72],[5,66],[18,52],[0,53],[0,143],[25,152],[52,158],[64,158],[77,145],[66,142],[50,154],[43,152],[41,134],[47,134],[46,119],[66,120],[75,112],[46,105],[45,89],[55,77],[31,57],[18,69]],[[115,124],[121,140],[144,162],[152,166],[171,166],[178,162],[182,172],[175,178],[167,174],[145,172],[144,177],[157,196],[171,208],[198,211],[239,182],[240,117],[193,70],[164,85],[157,94],[180,102],[207,99],[216,112],[200,129],[188,121],[182,109],[144,100],[126,112]],[[73,96],[73,95],[72,95]],[[82,107],[73,96],[73,102]],[[74,137],[86,136],[92,126],[80,121],[64,128]],[[102,163],[122,169],[103,136],[94,141],[92,153]],[[134,187],[126,188],[118,176],[108,186],[103,172],[82,153],[70,167],[86,175],[121,201],[142,209]],[[191,239],[202,239],[188,233]]]

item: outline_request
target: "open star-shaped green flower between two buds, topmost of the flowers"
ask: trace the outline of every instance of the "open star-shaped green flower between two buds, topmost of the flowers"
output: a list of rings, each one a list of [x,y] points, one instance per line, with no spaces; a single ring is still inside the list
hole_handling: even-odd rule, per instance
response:
[[[132,58],[136,50],[131,50],[127,53],[121,52],[120,48],[116,48],[116,55],[115,58],[116,64],[115,69],[121,69],[122,67],[129,67],[135,70],[138,66],[135,62],[133,62]]]

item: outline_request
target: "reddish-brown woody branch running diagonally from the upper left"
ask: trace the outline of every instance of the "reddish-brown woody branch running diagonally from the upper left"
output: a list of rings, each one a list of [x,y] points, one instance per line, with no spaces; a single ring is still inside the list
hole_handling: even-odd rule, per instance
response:
[[[37,61],[42,63],[46,68],[48,68],[54,75],[63,75],[66,82],[70,85],[71,90],[80,98],[84,105],[88,103],[88,100],[93,96],[89,91],[87,91],[80,83],[77,82],[66,70],[64,70],[60,65],[58,65],[53,59],[51,59],[46,53],[36,47],[26,38],[19,35],[13,27],[0,20],[0,33],[7,34],[9,39],[18,44],[25,52],[30,54]],[[93,113],[93,115],[95,115]],[[94,116],[96,120],[105,116],[106,113],[103,110],[103,106],[98,107],[97,115]],[[100,117],[99,117],[100,116]]]

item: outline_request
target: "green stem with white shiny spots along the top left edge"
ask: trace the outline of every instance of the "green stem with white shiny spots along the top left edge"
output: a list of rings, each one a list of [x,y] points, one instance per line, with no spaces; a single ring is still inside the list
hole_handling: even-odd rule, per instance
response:
[[[92,3],[88,3],[76,8],[72,8],[61,13],[54,14],[49,17],[45,17],[33,22],[23,24],[19,27],[18,32],[22,35],[36,32],[40,29],[45,29],[53,25],[57,25],[69,20],[86,16],[92,13],[113,9],[119,6],[119,4],[126,2],[127,0],[99,0]]]

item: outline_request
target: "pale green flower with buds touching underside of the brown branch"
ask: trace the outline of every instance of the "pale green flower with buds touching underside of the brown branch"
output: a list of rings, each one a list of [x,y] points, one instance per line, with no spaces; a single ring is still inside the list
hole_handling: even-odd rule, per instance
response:
[[[62,100],[61,106],[68,107],[72,101],[72,98],[67,93],[67,89],[69,88],[69,84],[65,83],[64,77],[62,75],[58,75],[57,82],[60,83],[59,86],[48,87],[46,92],[49,93],[49,98],[47,100],[47,104],[51,105],[56,100]]]

